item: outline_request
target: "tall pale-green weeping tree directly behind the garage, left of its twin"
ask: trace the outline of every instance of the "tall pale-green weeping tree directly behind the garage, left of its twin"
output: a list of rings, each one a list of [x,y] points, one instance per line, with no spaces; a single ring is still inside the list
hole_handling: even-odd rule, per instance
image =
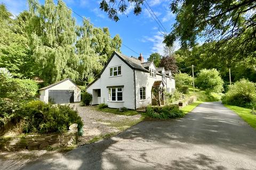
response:
[[[75,53],[76,21],[71,11],[60,0],[55,5],[46,0],[44,5],[29,0],[30,47],[33,50],[38,75],[52,83],[63,78],[77,80],[79,58]]]

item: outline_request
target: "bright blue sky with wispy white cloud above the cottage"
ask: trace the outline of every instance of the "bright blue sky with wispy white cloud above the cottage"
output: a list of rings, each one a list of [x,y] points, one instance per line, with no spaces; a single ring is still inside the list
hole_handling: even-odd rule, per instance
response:
[[[107,14],[99,9],[98,1],[89,0],[63,0],[68,7],[79,15],[88,18],[97,27],[108,27],[111,36],[119,34],[123,44],[132,48],[137,53],[147,58],[151,53],[158,52],[163,54],[163,34],[159,32],[159,26],[153,17],[149,14],[145,6],[139,16],[135,16],[132,11],[132,4],[129,4],[126,15],[120,15],[120,21],[111,21]],[[118,0],[117,0],[118,1]],[[44,0],[39,0],[41,4]],[[57,1],[54,0],[56,3]],[[153,9],[158,19],[162,22],[167,32],[172,29],[172,24],[175,22],[175,15],[170,12],[170,0],[147,0],[150,7]],[[7,9],[17,15],[21,11],[28,8],[26,0],[0,0],[4,3]],[[82,23],[82,19],[76,14],[73,14],[78,24]],[[179,45],[174,46],[175,49]],[[132,50],[122,45],[122,53],[127,56],[138,56]]]

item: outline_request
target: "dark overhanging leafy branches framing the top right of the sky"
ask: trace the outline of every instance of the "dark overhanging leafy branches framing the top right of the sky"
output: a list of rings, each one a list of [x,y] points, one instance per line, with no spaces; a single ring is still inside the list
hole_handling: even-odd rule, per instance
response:
[[[108,13],[110,19],[118,21],[118,14],[125,13],[128,3],[134,5],[133,12],[139,15],[142,5],[147,2],[122,0],[107,3],[102,0],[100,8]],[[215,42],[211,52],[225,50],[222,58],[227,61],[233,58],[239,61],[248,56],[255,56],[255,8],[254,0],[173,0],[170,3],[170,11],[175,14],[176,22],[169,35],[165,35],[164,43],[170,47],[178,40],[182,48],[191,48],[198,41]]]

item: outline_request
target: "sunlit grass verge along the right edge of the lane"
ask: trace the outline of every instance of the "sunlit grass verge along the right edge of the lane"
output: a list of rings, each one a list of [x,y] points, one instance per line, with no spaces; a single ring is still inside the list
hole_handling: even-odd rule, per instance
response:
[[[231,111],[234,111],[238,114],[245,122],[250,124],[252,128],[256,129],[256,115],[252,114],[252,110],[248,108],[238,107],[238,106],[230,106],[224,105],[229,108]]]

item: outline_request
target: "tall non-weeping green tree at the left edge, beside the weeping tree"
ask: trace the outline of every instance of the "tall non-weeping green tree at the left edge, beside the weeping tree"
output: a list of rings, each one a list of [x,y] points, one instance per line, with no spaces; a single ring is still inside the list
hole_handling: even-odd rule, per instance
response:
[[[7,11],[4,4],[0,5],[0,67],[6,67],[14,77],[31,78],[30,48],[25,32],[28,12],[20,13],[15,19]]]

